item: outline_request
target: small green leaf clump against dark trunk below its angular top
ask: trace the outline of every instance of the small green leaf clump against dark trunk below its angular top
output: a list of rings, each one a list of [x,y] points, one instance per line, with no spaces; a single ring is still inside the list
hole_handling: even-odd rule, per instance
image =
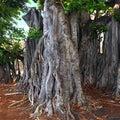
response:
[[[42,31],[40,29],[35,29],[35,28],[31,27],[29,29],[28,37],[39,40],[42,37]]]

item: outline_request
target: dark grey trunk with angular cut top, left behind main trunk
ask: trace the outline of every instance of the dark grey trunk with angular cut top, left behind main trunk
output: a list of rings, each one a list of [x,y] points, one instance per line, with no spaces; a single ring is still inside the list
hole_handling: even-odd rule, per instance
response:
[[[23,19],[27,23],[29,27],[34,27],[36,29],[42,29],[42,17],[39,11],[35,8],[31,8],[26,15],[23,16]],[[29,78],[31,77],[30,68],[32,64],[32,59],[34,58],[34,52],[36,50],[36,46],[38,44],[38,40],[27,38],[25,42],[25,53],[24,53],[24,74],[22,79],[19,82],[19,86],[17,89],[24,90],[28,86]],[[36,64],[36,63],[35,63]],[[36,64],[36,66],[38,66]],[[37,68],[36,68],[37,69]],[[29,89],[29,88],[28,88]]]

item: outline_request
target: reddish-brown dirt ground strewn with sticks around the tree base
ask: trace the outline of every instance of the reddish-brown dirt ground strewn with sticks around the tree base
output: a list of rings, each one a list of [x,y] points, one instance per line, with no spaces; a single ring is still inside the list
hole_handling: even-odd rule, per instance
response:
[[[0,120],[32,120],[30,112],[24,113],[30,106],[25,95],[15,92],[15,84],[0,85]],[[72,105],[77,120],[120,120],[120,101],[111,98],[111,93],[84,87],[89,107]],[[90,109],[90,111],[89,111]],[[63,120],[62,116],[46,117],[36,120]]]

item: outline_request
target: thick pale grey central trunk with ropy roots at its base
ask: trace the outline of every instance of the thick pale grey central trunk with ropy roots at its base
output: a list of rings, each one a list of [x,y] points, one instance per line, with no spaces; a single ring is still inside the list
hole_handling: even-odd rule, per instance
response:
[[[32,105],[37,105],[32,117],[36,117],[46,105],[47,115],[52,115],[54,110],[65,114],[67,119],[75,119],[70,110],[70,101],[79,105],[85,102],[79,68],[78,20],[78,13],[66,15],[61,4],[45,0],[43,37],[35,52],[32,51],[33,58],[28,58],[28,51],[25,57],[25,64],[31,60],[29,65],[25,65],[25,74],[29,71],[26,74],[29,100]]]

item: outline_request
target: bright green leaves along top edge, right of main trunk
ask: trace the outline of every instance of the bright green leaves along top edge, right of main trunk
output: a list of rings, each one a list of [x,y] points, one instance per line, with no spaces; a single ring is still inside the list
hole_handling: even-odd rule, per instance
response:
[[[104,0],[94,1],[94,0],[65,0],[64,2],[65,12],[73,11],[89,11],[93,13],[94,10],[106,10],[107,6],[105,5]]]

